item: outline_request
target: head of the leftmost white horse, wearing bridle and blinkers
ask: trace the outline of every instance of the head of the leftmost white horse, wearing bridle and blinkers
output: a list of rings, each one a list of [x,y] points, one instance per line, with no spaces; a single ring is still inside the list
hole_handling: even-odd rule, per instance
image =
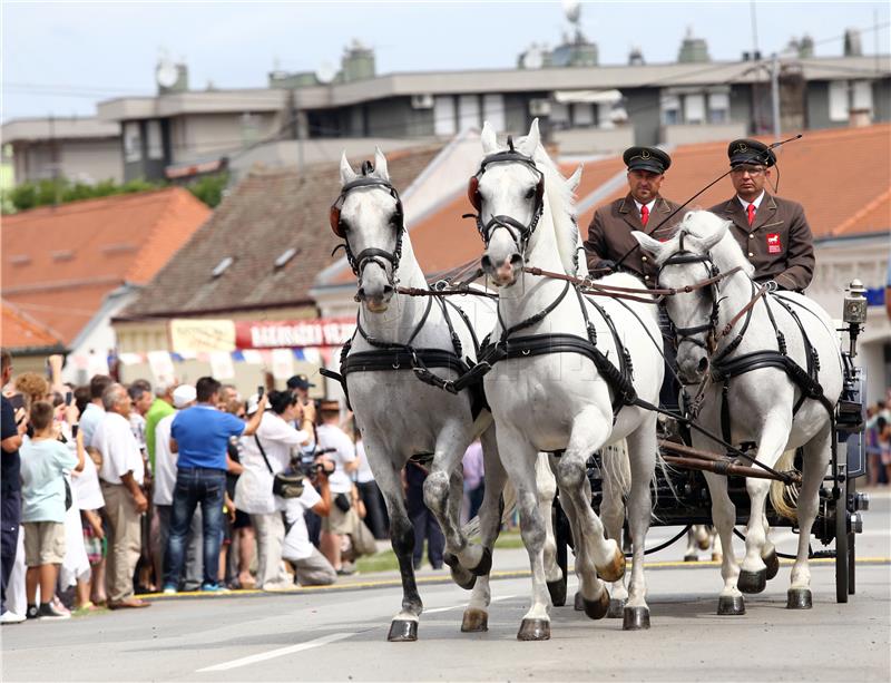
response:
[[[374,163],[364,162],[360,173],[344,153],[341,185],[331,207],[331,230],[344,241],[346,258],[359,279],[356,301],[372,313],[382,313],[395,292],[404,223],[402,202],[380,148],[375,148]]]

